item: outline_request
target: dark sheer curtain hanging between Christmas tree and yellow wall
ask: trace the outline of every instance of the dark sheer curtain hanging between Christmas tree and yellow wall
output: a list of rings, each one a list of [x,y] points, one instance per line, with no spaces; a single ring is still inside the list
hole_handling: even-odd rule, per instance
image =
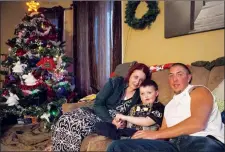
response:
[[[76,88],[96,93],[121,63],[121,2],[74,2]]]

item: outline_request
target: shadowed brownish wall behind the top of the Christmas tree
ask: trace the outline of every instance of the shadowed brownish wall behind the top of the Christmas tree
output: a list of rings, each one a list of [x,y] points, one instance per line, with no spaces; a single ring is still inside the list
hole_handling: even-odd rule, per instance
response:
[[[8,39],[11,39],[14,36],[14,30],[16,25],[21,22],[21,19],[24,17],[25,13],[27,12],[26,1],[8,1],[8,2],[0,2],[1,3],[1,10],[0,10],[0,28],[1,28],[1,52],[7,53],[8,46],[5,42]],[[53,7],[53,6],[62,6],[64,8],[70,7],[72,1],[66,0],[58,0],[58,1],[40,1],[40,7]],[[72,55],[72,23],[73,23],[73,11],[66,10],[65,11],[65,36],[64,40],[66,40],[66,52]]]

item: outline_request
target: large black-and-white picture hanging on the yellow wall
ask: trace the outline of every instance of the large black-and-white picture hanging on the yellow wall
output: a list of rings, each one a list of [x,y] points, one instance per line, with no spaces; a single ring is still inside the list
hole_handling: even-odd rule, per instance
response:
[[[224,29],[224,1],[165,1],[165,38]]]

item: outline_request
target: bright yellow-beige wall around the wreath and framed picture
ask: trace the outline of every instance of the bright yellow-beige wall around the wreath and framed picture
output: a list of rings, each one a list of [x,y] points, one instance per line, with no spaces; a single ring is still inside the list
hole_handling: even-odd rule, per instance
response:
[[[123,62],[138,61],[148,65],[168,62],[190,64],[198,60],[211,61],[224,56],[224,30],[164,38],[164,2],[159,2],[160,14],[151,28],[134,30],[124,23],[126,2],[122,2]],[[147,11],[140,3],[137,16]]]

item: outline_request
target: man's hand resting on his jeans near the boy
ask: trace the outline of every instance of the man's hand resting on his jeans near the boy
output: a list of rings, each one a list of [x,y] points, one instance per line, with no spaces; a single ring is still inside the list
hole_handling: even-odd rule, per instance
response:
[[[158,139],[158,131],[139,130],[131,138],[132,139]]]

